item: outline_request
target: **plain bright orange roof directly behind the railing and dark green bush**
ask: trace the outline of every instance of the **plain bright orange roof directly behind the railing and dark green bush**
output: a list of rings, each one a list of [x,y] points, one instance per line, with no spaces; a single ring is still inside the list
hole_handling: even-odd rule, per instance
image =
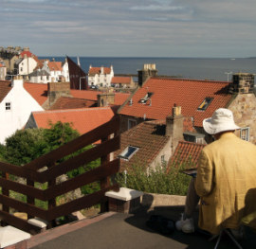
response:
[[[117,108],[97,107],[83,108],[60,111],[43,111],[32,112],[38,128],[49,128],[49,120],[52,123],[58,121],[70,122],[73,128],[79,133],[88,133],[99,127],[101,124],[108,122],[115,116]]]

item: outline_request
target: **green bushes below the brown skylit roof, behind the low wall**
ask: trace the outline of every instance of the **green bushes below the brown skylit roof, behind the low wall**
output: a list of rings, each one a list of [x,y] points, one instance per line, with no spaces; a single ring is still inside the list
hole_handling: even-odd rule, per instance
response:
[[[132,169],[126,174],[120,173],[117,181],[121,187],[137,189],[147,193],[186,195],[191,178],[179,173],[186,165],[156,165],[155,169],[148,169],[138,159]]]

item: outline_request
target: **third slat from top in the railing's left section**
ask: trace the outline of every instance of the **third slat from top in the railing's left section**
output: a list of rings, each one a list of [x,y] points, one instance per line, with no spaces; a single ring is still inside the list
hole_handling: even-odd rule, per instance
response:
[[[2,194],[0,194],[0,203],[2,205],[8,205],[9,207],[19,210],[20,212],[25,212],[28,215],[36,216],[43,220],[46,220],[46,210],[41,207],[37,207],[35,205],[28,205],[26,203],[20,202]]]

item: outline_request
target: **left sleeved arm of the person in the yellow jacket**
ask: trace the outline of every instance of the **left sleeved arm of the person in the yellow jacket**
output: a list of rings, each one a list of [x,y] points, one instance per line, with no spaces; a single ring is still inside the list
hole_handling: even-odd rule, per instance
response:
[[[194,183],[196,193],[201,197],[210,194],[213,188],[213,169],[208,154],[202,150],[198,159],[196,181]]]

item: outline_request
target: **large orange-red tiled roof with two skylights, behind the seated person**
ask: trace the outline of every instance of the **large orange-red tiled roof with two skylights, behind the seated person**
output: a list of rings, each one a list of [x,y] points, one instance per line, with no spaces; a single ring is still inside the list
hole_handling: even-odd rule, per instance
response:
[[[147,93],[154,93],[151,105],[139,103]],[[213,98],[205,111],[197,108],[205,98]],[[151,78],[137,90],[132,97],[133,105],[127,102],[119,111],[120,115],[164,119],[172,114],[174,103],[181,106],[183,116],[192,116],[194,126],[202,127],[204,118],[221,107],[226,107],[232,95],[229,94],[229,82],[212,80],[176,80]]]

